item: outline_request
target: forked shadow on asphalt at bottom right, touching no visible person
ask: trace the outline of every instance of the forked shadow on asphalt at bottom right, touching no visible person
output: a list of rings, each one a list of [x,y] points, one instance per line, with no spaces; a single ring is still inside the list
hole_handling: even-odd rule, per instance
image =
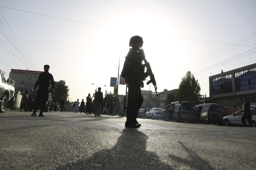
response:
[[[169,155],[171,160],[177,161],[178,164],[185,164],[191,168],[194,169],[209,169],[214,170],[215,168],[211,167],[208,161],[203,160],[202,157],[200,157],[195,151],[192,151],[191,149],[184,146],[182,142],[179,141],[179,144],[182,146],[182,148],[185,149],[185,151],[189,154],[189,158],[180,158],[175,155]]]

